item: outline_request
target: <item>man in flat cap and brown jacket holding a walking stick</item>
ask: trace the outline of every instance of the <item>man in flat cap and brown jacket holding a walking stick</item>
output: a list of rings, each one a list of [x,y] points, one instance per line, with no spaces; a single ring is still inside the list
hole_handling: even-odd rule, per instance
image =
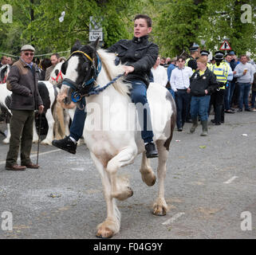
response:
[[[33,64],[35,49],[24,45],[21,57],[10,68],[7,88],[12,92],[10,109],[10,145],[6,156],[6,170],[23,171],[26,168],[38,168],[30,160],[33,140],[34,110],[41,113],[44,109],[38,92],[38,70]],[[21,146],[21,166],[18,165],[18,151]]]

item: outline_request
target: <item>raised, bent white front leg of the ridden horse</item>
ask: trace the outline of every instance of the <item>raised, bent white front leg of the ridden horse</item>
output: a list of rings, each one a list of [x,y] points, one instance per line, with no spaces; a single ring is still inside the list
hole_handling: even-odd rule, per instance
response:
[[[137,147],[126,147],[108,161],[106,170],[110,176],[112,198],[124,200],[132,196],[133,192],[129,186],[128,179],[117,178],[116,172],[120,167],[133,163],[136,155]]]

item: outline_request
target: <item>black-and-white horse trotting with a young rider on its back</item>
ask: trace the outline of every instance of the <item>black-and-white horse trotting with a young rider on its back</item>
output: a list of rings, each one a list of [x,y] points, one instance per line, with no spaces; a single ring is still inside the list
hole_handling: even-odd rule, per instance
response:
[[[97,226],[96,237],[109,238],[120,231],[120,211],[115,200],[124,200],[133,194],[128,180],[116,175],[120,167],[132,164],[136,156],[142,153],[142,180],[152,186],[156,176],[144,152],[136,106],[129,96],[130,84],[120,78],[108,87],[104,86],[124,73],[122,65],[114,65],[114,54],[103,49],[96,50],[97,44],[98,40],[90,45],[81,45],[79,41],[73,45],[69,59],[61,66],[65,79],[58,100],[63,107],[72,108],[75,106],[73,101],[80,103],[81,97],[86,98],[87,118],[83,135],[100,172],[107,203],[107,218]],[[164,179],[175,127],[175,102],[171,93],[160,84],[151,83],[147,93],[152,112],[153,139],[159,153],[159,191],[152,212],[165,215],[167,203],[164,199]]]

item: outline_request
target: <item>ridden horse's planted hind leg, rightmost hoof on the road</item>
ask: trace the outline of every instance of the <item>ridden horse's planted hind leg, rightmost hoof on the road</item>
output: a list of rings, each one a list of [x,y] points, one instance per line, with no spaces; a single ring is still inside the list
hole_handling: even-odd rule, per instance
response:
[[[156,146],[159,154],[158,160],[158,168],[157,168],[157,177],[159,179],[159,192],[158,198],[156,198],[156,202],[153,205],[153,214],[158,216],[163,216],[167,212],[167,203],[164,199],[164,179],[166,176],[166,162],[168,151],[163,146],[164,140],[156,141]]]

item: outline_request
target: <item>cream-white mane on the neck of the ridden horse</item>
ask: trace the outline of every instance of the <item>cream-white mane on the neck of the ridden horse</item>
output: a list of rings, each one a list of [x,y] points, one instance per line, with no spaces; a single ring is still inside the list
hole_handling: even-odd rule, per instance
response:
[[[104,49],[97,50],[97,53],[99,54],[99,57],[101,59],[102,66],[104,67],[106,73],[108,74],[108,77],[112,80],[121,73],[124,73],[124,69],[122,69],[122,65],[115,65],[115,54],[114,53],[108,53]],[[130,93],[129,89],[131,88],[131,84],[124,83],[122,81],[122,78],[116,80],[114,84],[112,84],[113,88],[116,89],[116,91],[120,92],[120,94],[124,96],[128,96]]]

